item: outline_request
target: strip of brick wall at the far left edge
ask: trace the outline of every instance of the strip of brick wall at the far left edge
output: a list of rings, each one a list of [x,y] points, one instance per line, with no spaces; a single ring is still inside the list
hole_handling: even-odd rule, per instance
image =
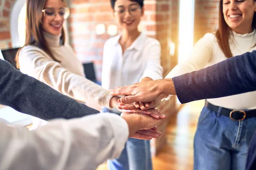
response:
[[[10,13],[15,0],[0,0],[0,48],[10,48]]]

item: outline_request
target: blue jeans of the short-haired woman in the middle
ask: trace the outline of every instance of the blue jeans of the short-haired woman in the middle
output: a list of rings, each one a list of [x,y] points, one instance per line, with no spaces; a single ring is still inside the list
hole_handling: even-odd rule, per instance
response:
[[[129,138],[119,158],[108,160],[107,166],[108,170],[152,170],[150,141]]]

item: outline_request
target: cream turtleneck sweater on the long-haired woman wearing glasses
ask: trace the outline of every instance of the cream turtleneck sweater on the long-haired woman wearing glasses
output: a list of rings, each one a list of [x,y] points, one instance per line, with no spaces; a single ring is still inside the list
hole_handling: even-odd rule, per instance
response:
[[[95,101],[109,107],[112,97],[109,91],[84,77],[81,62],[70,45],[60,45],[60,37],[44,32],[52,55],[60,62],[54,61],[40,48],[27,45],[19,54],[20,71],[73,99],[81,102]]]

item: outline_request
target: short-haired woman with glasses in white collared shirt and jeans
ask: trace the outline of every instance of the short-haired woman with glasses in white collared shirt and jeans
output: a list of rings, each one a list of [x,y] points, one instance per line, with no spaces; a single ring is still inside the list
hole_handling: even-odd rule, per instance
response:
[[[102,86],[131,85],[140,81],[162,79],[160,43],[138,30],[144,14],[143,0],[111,0],[116,23],[121,34],[112,37],[104,45]],[[148,108],[148,103],[136,103]],[[105,112],[120,114],[116,109],[104,108]],[[128,139],[119,159],[108,160],[110,170],[152,170],[150,142]]]

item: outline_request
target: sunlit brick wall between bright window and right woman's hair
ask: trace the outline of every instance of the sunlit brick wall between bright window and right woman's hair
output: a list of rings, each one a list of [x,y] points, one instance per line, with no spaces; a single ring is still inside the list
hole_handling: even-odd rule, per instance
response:
[[[195,0],[194,42],[218,28],[219,0]]]

